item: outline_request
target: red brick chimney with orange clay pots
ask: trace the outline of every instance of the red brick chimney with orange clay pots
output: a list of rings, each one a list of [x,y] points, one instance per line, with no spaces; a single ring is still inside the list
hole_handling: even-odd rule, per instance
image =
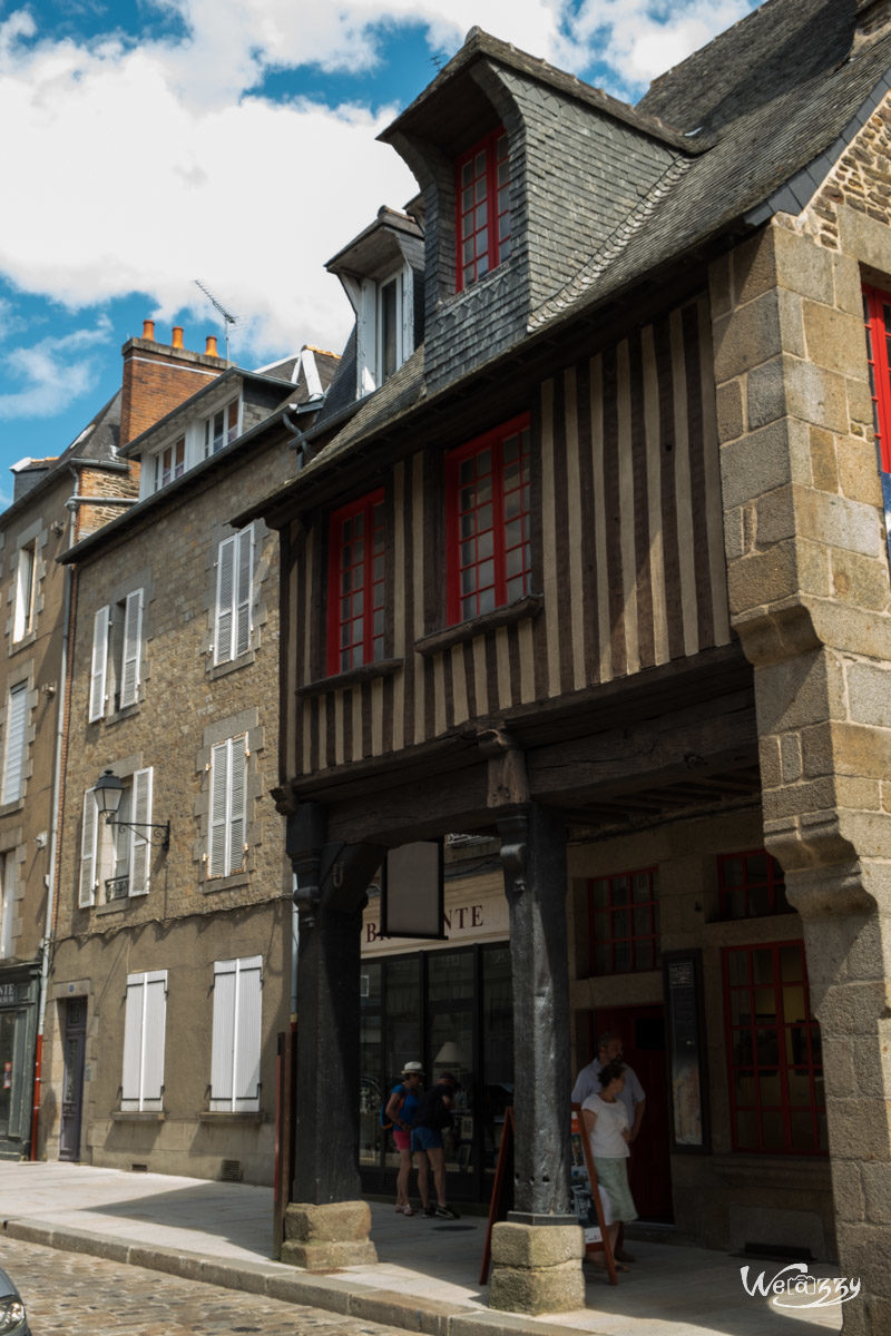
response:
[[[120,382],[120,444],[128,445],[184,399],[224,371],[228,362],[183,347],[176,325],[170,343],[155,339],[155,322],[143,322],[142,338],[128,339]]]

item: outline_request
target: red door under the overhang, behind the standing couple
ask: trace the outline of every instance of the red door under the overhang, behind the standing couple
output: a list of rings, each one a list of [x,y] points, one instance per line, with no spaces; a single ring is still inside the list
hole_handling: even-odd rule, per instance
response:
[[[600,1007],[592,1013],[592,1054],[597,1035],[621,1035],[625,1062],[647,1096],[640,1136],[632,1146],[628,1176],[641,1220],[672,1221],[665,1021],[661,1006]]]

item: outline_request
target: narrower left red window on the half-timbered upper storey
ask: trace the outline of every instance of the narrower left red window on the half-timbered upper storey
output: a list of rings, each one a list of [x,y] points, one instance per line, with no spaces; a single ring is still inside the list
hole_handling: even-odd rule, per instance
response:
[[[383,488],[342,506],[329,530],[330,673],[383,659]]]

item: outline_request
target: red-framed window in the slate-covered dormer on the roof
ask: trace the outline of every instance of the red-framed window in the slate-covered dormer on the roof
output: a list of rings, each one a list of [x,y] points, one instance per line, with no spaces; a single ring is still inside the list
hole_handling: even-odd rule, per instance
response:
[[[501,127],[456,163],[456,235],[458,291],[510,254],[510,160]]]

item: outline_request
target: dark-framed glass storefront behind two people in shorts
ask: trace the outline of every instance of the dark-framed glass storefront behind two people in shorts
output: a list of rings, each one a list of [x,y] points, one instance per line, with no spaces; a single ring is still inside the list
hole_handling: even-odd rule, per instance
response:
[[[359,1168],[366,1192],[391,1192],[399,1156],[381,1108],[405,1062],[425,1085],[452,1071],[461,1089],[446,1133],[448,1192],[488,1201],[504,1110],[513,1104],[513,1005],[508,943],[413,951],[362,962]],[[413,1181],[414,1190],[414,1181]]]

